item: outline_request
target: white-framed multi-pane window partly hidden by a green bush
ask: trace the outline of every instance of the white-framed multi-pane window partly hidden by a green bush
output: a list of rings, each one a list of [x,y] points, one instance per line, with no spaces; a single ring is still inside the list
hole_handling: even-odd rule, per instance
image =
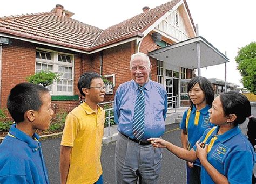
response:
[[[48,70],[60,74],[58,81],[47,87],[52,95],[73,95],[73,68],[73,55],[36,51],[36,73]]]

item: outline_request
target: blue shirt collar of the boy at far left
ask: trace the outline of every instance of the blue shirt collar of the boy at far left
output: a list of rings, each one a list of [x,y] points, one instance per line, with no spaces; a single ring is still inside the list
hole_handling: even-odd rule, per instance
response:
[[[26,135],[26,133],[24,133],[23,131],[19,130],[16,128],[16,124],[13,124],[10,128],[9,133],[14,136],[15,138],[25,142],[28,144],[28,146],[32,149],[37,151],[39,148],[39,142],[38,140],[40,139],[40,137],[34,133],[33,134],[33,138],[36,139],[34,140],[33,138],[31,138],[30,136]]]

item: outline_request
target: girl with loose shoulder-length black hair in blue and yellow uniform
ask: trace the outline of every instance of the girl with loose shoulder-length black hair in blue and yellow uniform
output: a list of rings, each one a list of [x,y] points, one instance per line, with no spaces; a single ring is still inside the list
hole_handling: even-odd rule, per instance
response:
[[[190,108],[184,114],[180,123],[182,147],[191,150],[204,131],[215,126],[209,121],[208,110],[212,107],[214,90],[211,82],[205,77],[197,76],[187,84],[190,97]],[[199,159],[186,164],[187,183],[200,184],[201,164]]]

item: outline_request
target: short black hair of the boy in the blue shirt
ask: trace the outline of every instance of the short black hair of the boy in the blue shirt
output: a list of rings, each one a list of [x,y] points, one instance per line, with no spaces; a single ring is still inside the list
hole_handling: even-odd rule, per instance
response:
[[[24,113],[28,110],[38,111],[42,106],[41,95],[49,90],[41,85],[23,82],[10,90],[7,108],[15,123],[24,121]]]

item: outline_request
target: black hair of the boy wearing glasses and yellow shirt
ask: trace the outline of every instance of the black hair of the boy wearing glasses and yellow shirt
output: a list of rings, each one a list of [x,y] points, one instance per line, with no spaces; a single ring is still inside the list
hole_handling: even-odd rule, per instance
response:
[[[92,79],[101,78],[100,75],[96,72],[85,72],[83,73],[77,83],[77,87],[80,91],[80,94],[85,96],[83,88],[90,88]]]

